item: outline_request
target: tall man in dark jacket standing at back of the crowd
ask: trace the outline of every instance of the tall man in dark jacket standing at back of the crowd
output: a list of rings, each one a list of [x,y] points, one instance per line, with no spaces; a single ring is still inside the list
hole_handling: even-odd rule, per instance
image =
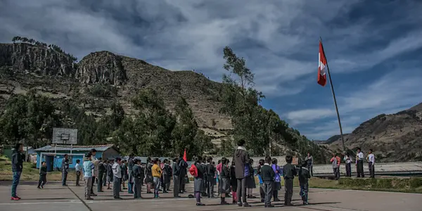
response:
[[[234,165],[236,166],[236,179],[237,179],[237,196],[242,200],[238,200],[238,206],[250,207],[248,202],[246,202],[246,178],[250,177],[249,172],[249,155],[246,151],[245,140],[241,139],[238,141],[238,148],[234,153]]]

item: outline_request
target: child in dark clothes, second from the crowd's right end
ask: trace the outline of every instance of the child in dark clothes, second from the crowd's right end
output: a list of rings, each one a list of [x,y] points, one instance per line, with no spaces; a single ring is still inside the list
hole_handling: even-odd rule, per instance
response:
[[[292,196],[293,196],[293,179],[298,174],[296,172],[295,166],[292,165],[293,157],[292,155],[286,155],[286,165],[283,166],[283,176],[284,176],[284,205],[293,206]]]

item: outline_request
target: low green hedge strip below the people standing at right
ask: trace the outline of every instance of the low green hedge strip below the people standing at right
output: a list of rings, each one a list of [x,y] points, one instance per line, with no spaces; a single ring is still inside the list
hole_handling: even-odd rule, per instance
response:
[[[418,188],[422,186],[422,178],[383,178],[383,179],[350,179],[341,178],[338,184],[350,187],[379,188],[379,189],[403,189]]]

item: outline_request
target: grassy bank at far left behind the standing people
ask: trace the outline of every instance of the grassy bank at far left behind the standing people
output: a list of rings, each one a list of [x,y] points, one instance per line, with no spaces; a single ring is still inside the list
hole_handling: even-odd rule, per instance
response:
[[[69,172],[68,180],[76,180],[74,172]],[[12,181],[12,163],[4,155],[0,155],[0,181]],[[23,162],[23,172],[20,176],[21,180],[25,181],[38,181],[39,180],[39,169],[32,162]],[[61,181],[61,172],[49,172],[47,174],[47,181]]]

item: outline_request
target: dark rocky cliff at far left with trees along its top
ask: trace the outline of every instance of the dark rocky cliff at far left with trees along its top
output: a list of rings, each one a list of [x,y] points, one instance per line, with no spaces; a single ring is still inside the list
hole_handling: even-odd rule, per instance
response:
[[[72,58],[48,47],[26,43],[0,44],[0,66],[38,75],[75,75]]]

